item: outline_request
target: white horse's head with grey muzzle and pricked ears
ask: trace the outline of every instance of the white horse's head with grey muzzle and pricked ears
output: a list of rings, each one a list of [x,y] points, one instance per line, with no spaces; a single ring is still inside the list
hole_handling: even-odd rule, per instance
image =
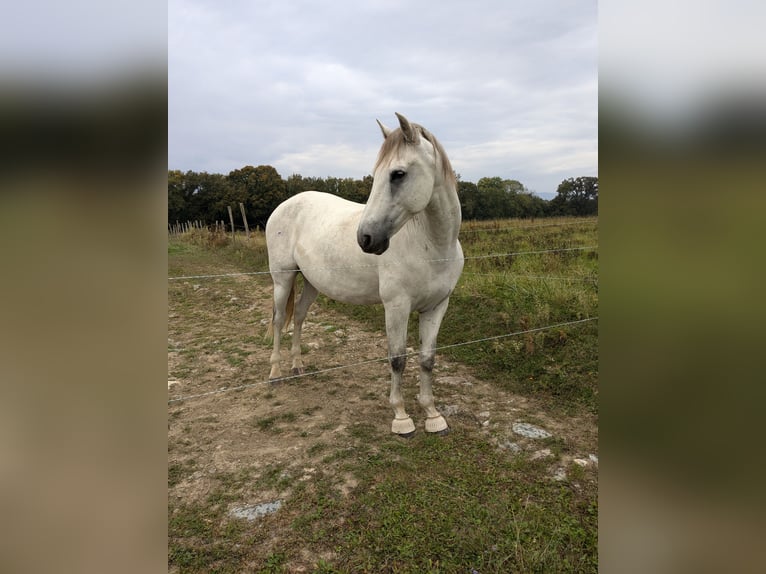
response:
[[[391,237],[431,201],[437,178],[437,144],[422,126],[401,114],[399,128],[378,121],[383,145],[373,173],[372,191],[356,237],[365,253],[381,255]]]

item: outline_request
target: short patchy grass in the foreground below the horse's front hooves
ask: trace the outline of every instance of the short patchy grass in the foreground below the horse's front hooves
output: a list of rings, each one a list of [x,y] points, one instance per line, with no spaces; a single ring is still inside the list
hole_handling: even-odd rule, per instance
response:
[[[221,475],[206,501],[171,510],[169,562],[188,572],[237,572],[276,536],[278,550],[261,557],[260,571],[287,572],[306,552],[327,555],[313,572],[596,571],[595,486],[555,482],[544,462],[503,456],[467,431],[391,437],[376,452],[369,444],[357,437],[341,460],[358,480],[351,495],[319,471],[294,482],[284,512],[258,527],[224,512],[247,473]],[[267,477],[286,480],[279,468]]]

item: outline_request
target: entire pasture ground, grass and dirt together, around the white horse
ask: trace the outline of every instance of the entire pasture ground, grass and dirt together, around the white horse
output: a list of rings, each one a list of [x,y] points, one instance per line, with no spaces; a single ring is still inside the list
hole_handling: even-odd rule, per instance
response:
[[[269,384],[269,276],[194,277],[267,269],[262,234],[171,236],[169,571],[597,571],[598,321],[525,332],[597,316],[597,239],[595,219],[463,224],[434,370],[451,433],[423,431],[411,358],[404,440],[382,306],[320,296],[317,373]]]

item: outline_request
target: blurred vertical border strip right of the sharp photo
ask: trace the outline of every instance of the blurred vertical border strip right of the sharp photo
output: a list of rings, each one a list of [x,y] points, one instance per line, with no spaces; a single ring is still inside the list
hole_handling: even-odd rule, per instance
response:
[[[602,572],[766,563],[763,16],[600,3]]]

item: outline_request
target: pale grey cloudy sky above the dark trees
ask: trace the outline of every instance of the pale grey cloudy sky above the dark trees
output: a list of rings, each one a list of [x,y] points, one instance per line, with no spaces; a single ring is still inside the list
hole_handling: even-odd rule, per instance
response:
[[[595,0],[170,0],[168,167],[371,173],[394,112],[463,180],[598,175]]]

